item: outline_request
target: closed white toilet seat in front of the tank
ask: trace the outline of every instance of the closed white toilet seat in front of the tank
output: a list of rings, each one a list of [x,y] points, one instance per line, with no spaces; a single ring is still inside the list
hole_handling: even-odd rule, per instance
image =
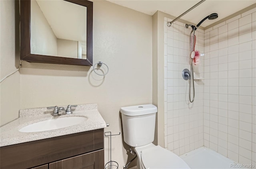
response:
[[[142,150],[141,158],[145,169],[190,169],[178,155],[159,145]]]

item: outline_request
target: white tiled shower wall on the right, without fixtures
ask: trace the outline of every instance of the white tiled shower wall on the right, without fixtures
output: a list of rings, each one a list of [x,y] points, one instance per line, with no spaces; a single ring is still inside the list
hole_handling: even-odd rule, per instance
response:
[[[204,146],[256,161],[255,8],[204,31]]]

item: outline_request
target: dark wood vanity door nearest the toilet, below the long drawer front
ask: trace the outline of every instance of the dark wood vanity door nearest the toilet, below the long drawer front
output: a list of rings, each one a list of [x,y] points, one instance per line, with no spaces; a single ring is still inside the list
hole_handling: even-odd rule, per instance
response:
[[[49,169],[103,169],[104,149],[49,164]]]

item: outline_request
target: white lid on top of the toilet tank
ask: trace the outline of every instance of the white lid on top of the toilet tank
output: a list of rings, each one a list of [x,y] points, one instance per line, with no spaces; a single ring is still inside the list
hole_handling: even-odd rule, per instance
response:
[[[157,112],[157,107],[153,104],[142,104],[137,106],[127,106],[120,108],[120,112],[126,116],[140,116]]]

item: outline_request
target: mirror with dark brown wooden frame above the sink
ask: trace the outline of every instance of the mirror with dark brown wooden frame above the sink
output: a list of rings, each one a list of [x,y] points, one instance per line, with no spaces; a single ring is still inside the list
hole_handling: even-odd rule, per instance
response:
[[[41,4],[41,2],[55,3],[58,1],[64,4],[65,7],[57,4],[57,9],[52,10],[54,14],[50,13],[48,17],[44,16],[45,11],[49,11],[49,7],[54,5]],[[36,9],[32,8],[34,6],[37,6]],[[71,13],[68,13],[68,11]],[[38,14],[34,14],[34,12]],[[92,66],[92,12],[93,2],[88,0],[20,0],[20,59],[36,63]],[[55,17],[55,13],[58,13],[56,16],[58,15],[62,19],[55,18],[51,20]],[[44,22],[54,23],[55,25],[42,25],[44,22],[41,22],[38,18],[35,19],[37,15],[42,16]],[[68,20],[68,18],[70,19]],[[78,18],[82,19],[78,20]],[[59,20],[63,20],[64,25],[59,23]],[[76,21],[76,23],[73,21]],[[60,28],[55,29],[56,25],[60,25]],[[41,29],[48,29],[47,32],[51,32],[52,35],[42,33]],[[86,30],[82,35],[75,35],[84,29]],[[62,35],[60,35],[60,32],[62,32]],[[66,39],[62,38],[63,36]],[[74,39],[75,36],[79,39]],[[73,44],[72,47],[65,46],[71,43]],[[61,48],[65,50],[60,51]]]

